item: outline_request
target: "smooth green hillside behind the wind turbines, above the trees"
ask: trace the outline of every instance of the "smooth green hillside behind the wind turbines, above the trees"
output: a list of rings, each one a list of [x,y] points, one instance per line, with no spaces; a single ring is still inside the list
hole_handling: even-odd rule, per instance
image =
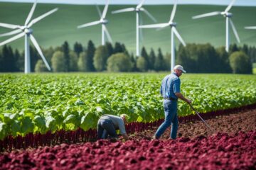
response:
[[[19,3],[0,3],[0,22],[23,24],[31,9],[32,4]],[[101,27],[92,26],[90,28],[82,28],[78,30],[76,27],[83,23],[97,21],[99,16],[95,6],[86,5],[60,5],[60,4],[38,4],[33,18],[40,16],[52,8],[58,7],[59,11],[51,16],[44,18],[42,21],[33,26],[36,40],[42,47],[58,46],[65,40],[73,46],[75,41],[87,44],[88,40],[93,40],[95,45],[101,43]],[[107,13],[109,24],[107,28],[112,35],[114,42],[123,42],[130,52],[135,52],[135,13],[118,13],[111,14],[111,11],[119,8],[127,8],[129,6],[110,5]],[[158,23],[169,21],[172,7],[164,6],[144,6],[157,19]],[[103,6],[100,6],[103,10]],[[225,45],[225,18],[223,16],[213,16],[209,18],[201,18],[192,20],[191,16],[211,11],[223,11],[225,6],[203,6],[203,5],[178,5],[174,21],[178,23],[177,29],[181,33],[185,42],[206,43],[215,45],[216,47]],[[246,43],[248,45],[256,45],[256,31],[245,30],[245,26],[256,26],[253,16],[256,16],[255,6],[233,6],[230,10],[234,14],[233,23],[235,24],[240,35],[240,45]],[[142,13],[144,24],[151,24],[152,21]],[[0,28],[0,33],[9,31],[6,28]],[[163,52],[170,52],[170,29],[156,31],[154,29],[146,29],[142,45],[147,49],[153,47],[155,50],[161,47]],[[231,33],[231,32],[230,32]],[[235,36],[230,34],[230,42],[235,42]],[[6,38],[0,38],[0,41]],[[11,42],[9,45],[14,48],[23,50],[23,38]],[[178,45],[178,40],[176,40]]]

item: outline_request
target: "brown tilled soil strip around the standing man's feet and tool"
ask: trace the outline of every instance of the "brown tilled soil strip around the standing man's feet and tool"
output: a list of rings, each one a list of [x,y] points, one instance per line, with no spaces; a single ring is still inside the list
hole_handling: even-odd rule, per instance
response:
[[[177,137],[193,138],[199,135],[207,137],[218,132],[225,132],[233,135],[239,131],[248,132],[250,130],[256,130],[256,109],[210,118],[206,120],[206,123],[208,123],[213,130],[210,130],[201,120],[196,120],[195,122],[190,123],[179,123]],[[158,127],[144,132],[137,132],[132,135],[132,138],[150,139],[157,128]],[[170,132],[171,127],[164,132],[161,139],[168,139],[170,137]]]

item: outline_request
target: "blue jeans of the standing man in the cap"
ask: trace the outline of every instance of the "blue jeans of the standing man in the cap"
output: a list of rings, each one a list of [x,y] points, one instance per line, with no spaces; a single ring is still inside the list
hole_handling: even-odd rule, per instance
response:
[[[164,131],[171,125],[171,139],[176,139],[178,130],[177,101],[164,100],[164,123],[156,130],[156,138],[158,139]]]

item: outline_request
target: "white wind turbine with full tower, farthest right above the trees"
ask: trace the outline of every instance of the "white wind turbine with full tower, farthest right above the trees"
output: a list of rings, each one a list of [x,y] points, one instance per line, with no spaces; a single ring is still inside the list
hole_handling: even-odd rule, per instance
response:
[[[231,1],[230,4],[228,5],[228,7],[225,8],[225,11],[222,11],[222,12],[215,11],[215,12],[210,12],[210,13],[203,13],[201,15],[193,16],[192,17],[193,19],[197,19],[197,18],[203,18],[203,17],[207,17],[207,16],[223,15],[226,18],[226,45],[225,45],[226,52],[228,52],[229,45],[230,45],[230,40],[229,40],[229,23],[230,23],[231,28],[233,29],[233,32],[235,34],[235,38],[240,43],[240,38],[238,36],[238,32],[235,29],[233,21],[231,20],[231,17],[233,16],[233,14],[228,12],[228,11],[230,11],[230,8],[233,6],[234,3],[235,3],[235,0]]]

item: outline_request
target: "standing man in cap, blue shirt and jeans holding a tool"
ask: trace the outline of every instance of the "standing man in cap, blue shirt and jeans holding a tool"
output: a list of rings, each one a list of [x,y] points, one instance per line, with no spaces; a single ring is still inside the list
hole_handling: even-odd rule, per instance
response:
[[[181,80],[179,77],[182,73],[186,73],[181,65],[176,65],[174,71],[164,77],[161,83],[161,96],[164,98],[164,123],[156,130],[156,134],[152,139],[159,139],[164,131],[171,125],[171,139],[176,139],[178,130],[177,101],[178,98],[191,103],[191,100],[185,98],[181,94]]]

